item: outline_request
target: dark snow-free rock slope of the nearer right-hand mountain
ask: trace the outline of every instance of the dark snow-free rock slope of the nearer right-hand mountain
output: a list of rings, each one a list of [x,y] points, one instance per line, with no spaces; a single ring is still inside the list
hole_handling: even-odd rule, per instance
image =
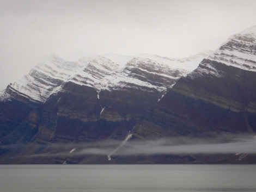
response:
[[[198,75],[205,65],[220,71],[221,77]],[[153,139],[164,135],[214,137],[221,132],[254,133],[255,90],[255,72],[205,59],[150,108],[143,122],[136,126],[136,135]]]

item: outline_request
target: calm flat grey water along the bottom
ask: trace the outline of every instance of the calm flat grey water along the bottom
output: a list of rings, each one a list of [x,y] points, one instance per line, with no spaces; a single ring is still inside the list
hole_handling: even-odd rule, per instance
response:
[[[256,191],[256,165],[0,165],[1,192]]]

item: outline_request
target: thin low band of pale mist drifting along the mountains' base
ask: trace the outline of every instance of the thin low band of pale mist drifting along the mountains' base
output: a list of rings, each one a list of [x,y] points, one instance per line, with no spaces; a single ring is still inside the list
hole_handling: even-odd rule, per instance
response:
[[[90,143],[48,144],[47,153],[33,156],[66,156],[66,155],[154,155],[181,153],[256,153],[256,139],[252,135],[222,135],[217,138],[175,137],[158,140],[124,141],[102,140]],[[1,146],[5,148],[17,145]],[[52,151],[51,151],[52,148]],[[56,152],[54,152],[56,151]]]

